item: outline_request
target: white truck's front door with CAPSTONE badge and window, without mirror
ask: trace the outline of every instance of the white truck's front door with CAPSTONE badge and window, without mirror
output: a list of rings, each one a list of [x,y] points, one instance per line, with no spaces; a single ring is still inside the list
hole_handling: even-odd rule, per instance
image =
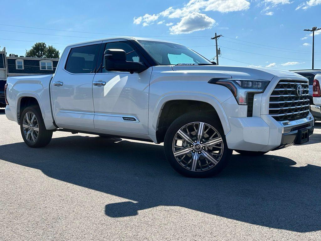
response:
[[[101,45],[94,76],[94,125],[96,129],[148,134],[148,96],[152,68],[139,74],[106,71],[103,54],[106,49],[123,49],[127,61],[143,62],[143,58],[129,41],[105,41]],[[97,131],[99,132],[99,130]]]

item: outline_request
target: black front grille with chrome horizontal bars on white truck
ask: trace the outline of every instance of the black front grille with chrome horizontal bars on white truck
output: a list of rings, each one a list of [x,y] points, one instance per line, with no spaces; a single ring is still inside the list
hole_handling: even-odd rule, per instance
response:
[[[297,87],[303,88],[298,95]],[[309,114],[309,85],[303,80],[280,80],[275,86],[269,105],[269,114],[277,121],[295,121]]]

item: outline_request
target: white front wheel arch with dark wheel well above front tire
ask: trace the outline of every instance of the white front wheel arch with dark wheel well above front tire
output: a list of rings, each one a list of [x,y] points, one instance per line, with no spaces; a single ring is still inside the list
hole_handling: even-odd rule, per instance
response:
[[[155,105],[151,115],[150,134],[156,136],[157,143],[163,142],[166,130],[172,121],[182,114],[193,111],[204,111],[216,116],[221,122],[224,134],[230,131],[227,115],[216,98],[206,94],[175,93],[164,96]]]

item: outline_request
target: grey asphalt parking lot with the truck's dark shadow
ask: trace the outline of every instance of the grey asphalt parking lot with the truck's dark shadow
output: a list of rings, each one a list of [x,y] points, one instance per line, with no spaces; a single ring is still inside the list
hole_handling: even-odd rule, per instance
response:
[[[55,132],[27,147],[1,109],[0,240],[320,240],[321,122],[314,133],[192,179],[147,142]]]

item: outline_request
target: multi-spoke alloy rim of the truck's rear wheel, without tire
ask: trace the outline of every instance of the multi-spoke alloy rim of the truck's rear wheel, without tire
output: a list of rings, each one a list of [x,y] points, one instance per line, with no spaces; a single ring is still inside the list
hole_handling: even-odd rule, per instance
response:
[[[33,143],[37,140],[39,135],[39,124],[37,117],[32,112],[27,112],[24,115],[23,121],[22,121],[22,129],[24,137],[27,141],[30,143]]]

